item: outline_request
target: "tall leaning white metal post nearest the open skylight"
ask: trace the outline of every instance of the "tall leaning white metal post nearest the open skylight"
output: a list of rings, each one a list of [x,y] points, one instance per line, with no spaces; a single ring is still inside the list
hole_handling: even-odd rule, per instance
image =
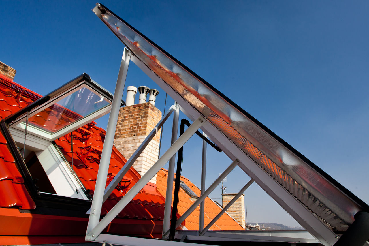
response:
[[[113,148],[115,129],[117,128],[118,114],[123,97],[125,79],[127,78],[128,65],[130,64],[131,52],[124,48],[120,63],[117,84],[115,86],[113,102],[111,104],[108,125],[104,140],[103,151],[100,158],[99,171],[97,173],[95,191],[92,199],[91,213],[87,225],[86,235],[94,228],[100,219],[101,206],[103,205],[104,189],[108,174],[111,150]]]

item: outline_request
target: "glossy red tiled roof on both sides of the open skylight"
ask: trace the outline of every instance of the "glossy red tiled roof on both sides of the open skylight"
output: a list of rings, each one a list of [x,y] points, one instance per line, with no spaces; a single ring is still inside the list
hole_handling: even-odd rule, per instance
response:
[[[0,118],[17,112],[21,108],[34,102],[41,96],[14,83],[11,79],[0,75]],[[30,118],[37,118],[37,124],[48,126],[53,121],[52,116],[58,115],[54,109],[42,115],[38,114]],[[55,111],[55,112],[54,112]],[[42,111],[41,113],[43,113]],[[70,120],[69,117],[66,121]],[[59,125],[62,125],[59,121]],[[101,151],[105,137],[105,130],[95,126],[91,122],[73,131],[73,170],[79,177],[89,194],[93,195],[96,184],[97,171],[99,169]],[[57,125],[57,124],[51,124]],[[50,129],[55,130],[55,129]],[[55,140],[65,158],[72,163],[71,134]],[[113,147],[107,184],[126,163],[126,159]],[[101,214],[105,215],[123,195],[139,180],[139,174],[130,168],[120,185],[103,205]],[[163,220],[165,198],[156,190],[156,187],[148,184],[137,194],[134,199],[118,214],[118,218],[137,218]],[[36,207],[24,185],[22,175],[18,171],[13,156],[11,155],[4,136],[0,133],[0,207],[18,207],[20,209],[34,209]]]

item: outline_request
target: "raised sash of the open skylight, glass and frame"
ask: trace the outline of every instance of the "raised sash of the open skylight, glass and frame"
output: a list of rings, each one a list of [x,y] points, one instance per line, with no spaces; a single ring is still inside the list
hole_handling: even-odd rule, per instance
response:
[[[110,112],[113,95],[87,74],[6,119],[10,127],[54,141]]]

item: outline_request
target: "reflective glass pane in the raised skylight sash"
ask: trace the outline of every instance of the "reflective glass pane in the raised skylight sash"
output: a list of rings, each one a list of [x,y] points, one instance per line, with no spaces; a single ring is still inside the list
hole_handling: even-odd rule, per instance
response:
[[[55,133],[66,126],[110,105],[87,87],[79,88],[71,95],[36,113],[28,124]],[[25,123],[25,120],[23,121]]]

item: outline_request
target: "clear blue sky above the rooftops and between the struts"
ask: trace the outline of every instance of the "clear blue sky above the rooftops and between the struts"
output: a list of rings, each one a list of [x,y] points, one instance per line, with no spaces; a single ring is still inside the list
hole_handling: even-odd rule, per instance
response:
[[[94,1],[0,3],[0,61],[17,69],[15,82],[45,95],[86,72],[114,91],[124,47]],[[101,3],[369,203],[368,1]],[[127,85],[159,89],[134,64]],[[162,111],[164,99],[160,90]],[[198,186],[200,148],[197,138],[184,147],[183,175]],[[207,184],[230,162],[209,148]],[[235,170],[227,193],[246,181]],[[249,222],[297,225],[256,184],[245,201]]]

